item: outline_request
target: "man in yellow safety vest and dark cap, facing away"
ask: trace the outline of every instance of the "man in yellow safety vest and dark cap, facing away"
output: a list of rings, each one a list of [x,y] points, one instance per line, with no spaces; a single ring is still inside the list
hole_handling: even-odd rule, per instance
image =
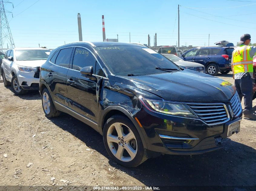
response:
[[[256,113],[252,110],[252,77],[253,77],[253,56],[256,55],[256,46],[248,46],[251,42],[251,35],[244,34],[239,44],[232,53],[232,72],[235,79],[240,100],[244,96],[244,117],[256,119]]]

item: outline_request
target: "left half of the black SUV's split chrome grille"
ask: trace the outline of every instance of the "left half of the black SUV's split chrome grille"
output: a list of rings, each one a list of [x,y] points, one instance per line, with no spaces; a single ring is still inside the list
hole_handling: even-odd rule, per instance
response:
[[[188,106],[208,125],[225,123],[229,120],[225,104],[189,103]]]

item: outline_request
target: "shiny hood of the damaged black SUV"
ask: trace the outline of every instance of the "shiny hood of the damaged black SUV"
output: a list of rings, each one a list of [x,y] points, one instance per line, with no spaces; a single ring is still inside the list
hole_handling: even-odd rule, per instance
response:
[[[143,76],[115,76],[115,81],[180,102],[228,102],[236,89],[214,76],[183,70]]]

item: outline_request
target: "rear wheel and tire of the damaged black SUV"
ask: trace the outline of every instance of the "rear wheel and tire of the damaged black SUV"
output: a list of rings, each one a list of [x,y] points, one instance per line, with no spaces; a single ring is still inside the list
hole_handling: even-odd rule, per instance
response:
[[[42,106],[47,118],[58,117],[60,112],[55,108],[50,92],[47,88],[42,91]]]

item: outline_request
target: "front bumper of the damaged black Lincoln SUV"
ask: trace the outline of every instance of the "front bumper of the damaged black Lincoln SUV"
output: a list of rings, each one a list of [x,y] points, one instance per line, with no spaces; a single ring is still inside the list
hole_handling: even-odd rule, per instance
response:
[[[222,148],[220,140],[227,137],[228,125],[240,120],[242,113],[224,124],[211,126],[198,119],[163,115],[145,108],[135,117],[145,130],[148,150],[164,154],[191,155]]]

